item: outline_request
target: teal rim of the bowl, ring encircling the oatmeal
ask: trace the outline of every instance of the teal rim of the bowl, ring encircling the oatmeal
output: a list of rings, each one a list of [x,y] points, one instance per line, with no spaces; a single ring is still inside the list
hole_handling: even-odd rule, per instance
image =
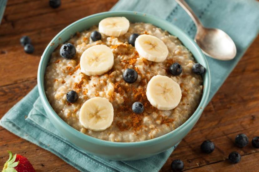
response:
[[[170,131],[169,133],[166,133],[162,136],[150,139],[150,140],[145,140],[145,141],[136,141],[136,142],[113,142],[113,141],[106,141],[106,140],[101,140],[89,135],[86,135],[76,129],[74,129],[73,127],[71,127],[69,124],[67,124],[65,121],[63,121],[63,119],[61,117],[58,116],[58,114],[53,110],[52,106],[50,105],[50,103],[48,102],[47,96],[45,94],[45,89],[44,89],[44,74],[45,74],[45,70],[43,70],[43,61],[44,58],[46,57],[47,52],[49,51],[50,47],[52,46],[52,42],[55,42],[55,40],[57,40],[59,38],[59,36],[61,34],[63,34],[63,32],[65,32],[67,29],[69,29],[70,27],[73,27],[76,23],[79,23],[81,21],[87,20],[89,18],[93,18],[93,17],[97,17],[97,16],[104,16],[107,14],[115,14],[115,15],[138,15],[138,16],[142,16],[142,17],[151,17],[153,19],[159,20],[160,23],[166,23],[169,24],[171,27],[174,27],[174,30],[176,30],[177,32],[180,32],[181,35],[183,35],[185,37],[185,39],[187,39],[188,41],[191,42],[191,46],[193,46],[195,48],[195,50],[199,53],[199,56],[201,56],[201,60],[203,61],[203,63],[205,64],[205,68],[206,68],[206,73],[204,74],[203,77],[203,85],[206,85],[205,88],[203,88],[203,94],[202,94],[202,98],[200,101],[200,104],[198,105],[198,107],[196,108],[195,112],[179,127],[177,127],[175,130]],[[159,26],[157,26],[159,27]],[[67,40],[66,40],[67,41]],[[195,57],[194,57],[195,58]],[[43,73],[43,74],[42,74]],[[43,76],[43,77],[42,77]],[[105,146],[111,146],[111,147],[128,147],[128,146],[148,146],[148,145],[154,145],[164,139],[168,139],[169,137],[173,137],[178,135],[178,133],[180,133],[181,131],[184,131],[185,128],[188,128],[188,126],[190,126],[192,124],[192,121],[195,121],[196,117],[199,118],[199,115],[201,115],[203,109],[206,107],[206,103],[209,97],[209,93],[210,93],[210,86],[211,86],[211,75],[210,75],[210,70],[209,70],[209,65],[208,62],[206,60],[205,55],[202,53],[200,47],[196,44],[195,41],[193,41],[187,34],[185,34],[181,29],[179,29],[177,26],[173,25],[172,23],[170,23],[169,21],[166,21],[164,19],[161,19],[160,17],[156,17],[154,15],[150,15],[150,14],[145,14],[142,12],[134,12],[134,11],[109,11],[109,12],[101,12],[101,13],[96,13],[84,18],[81,18],[75,22],[73,22],[72,24],[70,24],[69,26],[66,26],[62,31],[60,31],[48,44],[48,46],[46,47],[46,49],[43,52],[43,55],[41,57],[41,60],[39,62],[39,66],[38,66],[38,76],[37,76],[37,82],[38,82],[38,90],[39,90],[39,95],[41,98],[41,101],[43,103],[43,107],[45,107],[45,111],[47,110],[47,114],[51,115],[56,122],[59,123],[59,125],[63,126],[63,128],[66,129],[66,131],[68,131],[70,134],[74,134],[76,137],[79,137],[87,142],[92,142],[94,144],[97,145],[105,145]],[[197,119],[198,120],[198,119]]]

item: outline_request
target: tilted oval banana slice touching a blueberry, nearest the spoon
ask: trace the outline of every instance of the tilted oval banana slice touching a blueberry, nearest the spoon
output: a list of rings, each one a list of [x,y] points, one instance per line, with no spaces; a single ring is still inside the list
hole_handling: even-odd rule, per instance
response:
[[[168,55],[165,43],[151,35],[138,36],[135,41],[135,48],[141,57],[154,62],[162,62]]]

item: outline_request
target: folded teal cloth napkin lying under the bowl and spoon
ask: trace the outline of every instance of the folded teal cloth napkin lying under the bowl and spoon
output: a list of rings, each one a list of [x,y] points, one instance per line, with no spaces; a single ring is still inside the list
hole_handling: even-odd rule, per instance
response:
[[[208,27],[226,31],[236,43],[237,55],[231,61],[207,57],[211,69],[210,98],[216,93],[259,32],[259,3],[254,0],[187,0],[187,3]],[[120,0],[111,10],[131,10],[161,17],[180,27],[190,37],[195,25],[173,0]],[[12,133],[51,151],[80,171],[141,171],[157,172],[176,146],[153,157],[136,161],[105,160],[86,154],[67,141],[48,120],[39,99],[37,86],[12,107],[0,125]]]

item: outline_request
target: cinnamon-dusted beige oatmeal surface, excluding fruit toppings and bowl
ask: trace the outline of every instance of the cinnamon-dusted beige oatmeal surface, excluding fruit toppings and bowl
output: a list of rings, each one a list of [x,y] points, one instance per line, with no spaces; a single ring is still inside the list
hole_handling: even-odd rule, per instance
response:
[[[76,55],[71,60],[62,58],[59,48],[52,53],[45,72],[45,88],[48,100],[55,112],[70,126],[89,136],[117,142],[149,140],[162,136],[183,124],[196,110],[202,95],[202,78],[192,72],[195,64],[189,50],[168,32],[147,23],[130,23],[126,34],[109,37],[102,34],[102,39],[92,41],[90,33],[98,31],[97,26],[77,33],[68,42],[76,47]],[[148,61],[139,56],[135,47],[128,43],[132,33],[149,34],[161,39],[169,50],[163,62]],[[87,48],[104,44],[114,54],[114,65],[106,74],[87,76],[80,72],[80,57]],[[182,66],[182,73],[173,76],[168,71],[173,63]],[[135,69],[138,79],[135,83],[124,82],[122,74],[126,68]],[[146,97],[146,87],[155,75],[168,76],[180,85],[182,98],[173,110],[163,111],[153,107]],[[74,90],[79,98],[76,103],[68,103],[66,93]],[[104,131],[92,131],[79,122],[79,111],[89,98],[105,97],[114,108],[114,120]],[[132,111],[134,102],[143,103],[145,110],[141,114]]]

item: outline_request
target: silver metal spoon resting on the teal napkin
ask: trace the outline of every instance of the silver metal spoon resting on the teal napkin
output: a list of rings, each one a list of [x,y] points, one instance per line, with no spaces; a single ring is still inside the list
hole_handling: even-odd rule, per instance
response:
[[[184,0],[175,0],[194,21],[197,32],[194,41],[204,54],[218,60],[231,60],[236,56],[236,45],[224,31],[206,28]]]

